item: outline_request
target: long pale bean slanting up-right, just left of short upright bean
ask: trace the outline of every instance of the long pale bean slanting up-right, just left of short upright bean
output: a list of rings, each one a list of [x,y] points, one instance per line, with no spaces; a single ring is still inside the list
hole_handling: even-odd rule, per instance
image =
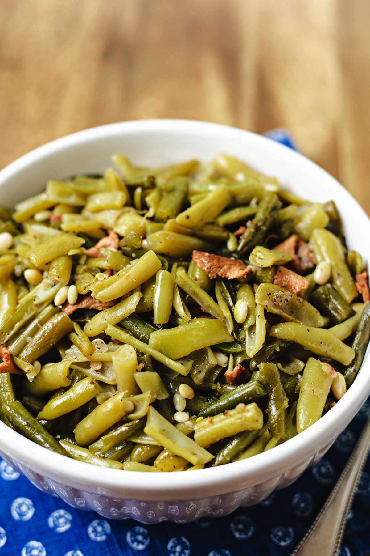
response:
[[[136,260],[129,269],[120,270],[114,276],[95,282],[91,290],[95,299],[111,301],[128,294],[135,287],[149,280],[161,267],[161,261],[153,251],[148,251]]]

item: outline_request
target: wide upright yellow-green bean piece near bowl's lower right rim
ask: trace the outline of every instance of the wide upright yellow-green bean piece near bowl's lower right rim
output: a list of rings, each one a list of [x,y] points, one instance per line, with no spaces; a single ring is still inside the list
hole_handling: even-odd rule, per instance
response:
[[[298,433],[320,419],[334,376],[334,369],[327,363],[313,357],[308,359],[297,404]]]

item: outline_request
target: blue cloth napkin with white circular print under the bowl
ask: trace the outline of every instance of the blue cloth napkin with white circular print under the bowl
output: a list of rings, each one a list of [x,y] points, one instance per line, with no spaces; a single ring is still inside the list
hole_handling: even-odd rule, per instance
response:
[[[266,134],[296,148],[285,130]],[[0,460],[0,556],[288,556],[315,519],[370,415],[370,398],[332,448],[286,489],[251,508],[190,524],[141,525],[76,510],[40,492]],[[370,550],[370,460],[348,517],[340,556]]]

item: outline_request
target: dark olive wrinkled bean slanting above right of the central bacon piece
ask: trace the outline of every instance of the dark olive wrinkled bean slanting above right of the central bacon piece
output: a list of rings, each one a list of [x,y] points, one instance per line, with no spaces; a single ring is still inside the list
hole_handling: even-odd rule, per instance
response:
[[[267,192],[257,207],[257,212],[251,221],[251,225],[247,227],[241,236],[236,250],[239,256],[249,254],[256,245],[261,244],[280,208],[281,202],[278,200],[276,193]]]

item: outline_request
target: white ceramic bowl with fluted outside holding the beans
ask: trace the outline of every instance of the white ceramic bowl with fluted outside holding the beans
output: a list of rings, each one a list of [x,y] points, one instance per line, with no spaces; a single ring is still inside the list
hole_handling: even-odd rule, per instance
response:
[[[349,247],[370,258],[370,221],[356,201],[321,168],[270,139],[214,123],[148,120],[115,123],[74,133],[19,158],[0,172],[0,202],[13,206],[43,190],[50,178],[98,173],[122,152],[139,165],[186,158],[209,160],[219,152],[276,175],[282,186],[312,201],[334,199]],[[0,455],[34,485],[77,508],[115,519],[178,523],[225,515],[292,483],[330,448],[370,392],[366,359],[348,393],[322,419],[267,453],[191,473],[137,473],[97,468],[64,458],[0,422]]]

